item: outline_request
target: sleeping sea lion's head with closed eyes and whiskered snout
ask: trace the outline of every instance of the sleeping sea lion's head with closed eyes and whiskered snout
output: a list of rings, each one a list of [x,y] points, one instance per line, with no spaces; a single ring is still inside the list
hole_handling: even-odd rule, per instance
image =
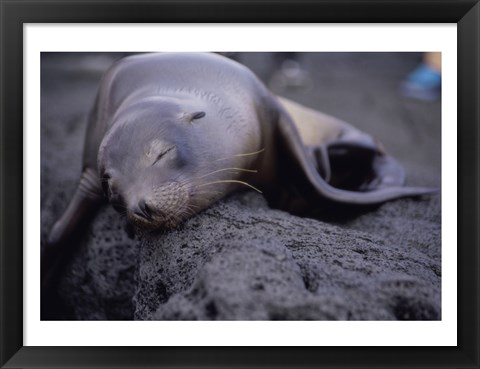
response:
[[[206,113],[195,108],[147,99],[114,116],[100,144],[99,176],[109,202],[135,226],[172,228],[211,203],[196,187],[209,159],[192,131]]]

